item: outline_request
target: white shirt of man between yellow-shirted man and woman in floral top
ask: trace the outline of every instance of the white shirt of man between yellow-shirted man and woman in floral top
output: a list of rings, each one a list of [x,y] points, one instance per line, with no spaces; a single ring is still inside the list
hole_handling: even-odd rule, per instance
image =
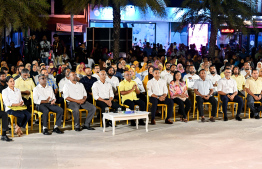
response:
[[[151,97],[152,94],[161,96],[168,93],[166,81],[163,79],[156,80],[155,78],[147,82],[147,93]]]

